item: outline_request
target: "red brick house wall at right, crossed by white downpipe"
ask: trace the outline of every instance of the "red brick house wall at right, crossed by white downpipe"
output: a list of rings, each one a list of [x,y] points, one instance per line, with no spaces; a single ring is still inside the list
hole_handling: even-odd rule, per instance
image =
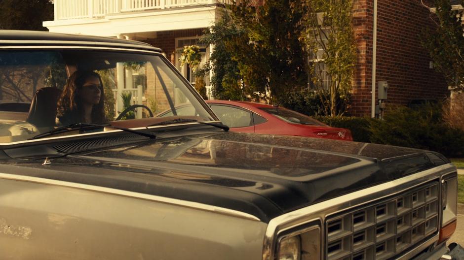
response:
[[[373,12],[373,0],[355,0],[358,63],[350,112],[356,116],[371,114]],[[421,30],[433,26],[429,16],[417,0],[378,0],[376,81],[388,82],[388,104],[449,95],[442,76],[429,68],[431,60],[421,46]]]

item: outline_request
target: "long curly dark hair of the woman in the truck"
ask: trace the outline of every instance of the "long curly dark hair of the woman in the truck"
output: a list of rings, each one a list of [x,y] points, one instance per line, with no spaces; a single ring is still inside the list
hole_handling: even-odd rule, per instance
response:
[[[57,118],[64,125],[84,122],[82,104],[78,93],[82,85],[89,78],[98,78],[100,81],[100,102],[92,107],[92,122],[107,122],[105,117],[103,82],[100,75],[94,71],[75,71],[67,80],[57,103]]]

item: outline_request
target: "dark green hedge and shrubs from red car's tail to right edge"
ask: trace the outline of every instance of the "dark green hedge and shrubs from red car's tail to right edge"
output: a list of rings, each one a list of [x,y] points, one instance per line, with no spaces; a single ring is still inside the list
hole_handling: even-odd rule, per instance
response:
[[[443,121],[441,106],[390,109],[384,119],[314,117],[331,127],[351,130],[354,141],[425,149],[447,157],[464,156],[464,131]]]

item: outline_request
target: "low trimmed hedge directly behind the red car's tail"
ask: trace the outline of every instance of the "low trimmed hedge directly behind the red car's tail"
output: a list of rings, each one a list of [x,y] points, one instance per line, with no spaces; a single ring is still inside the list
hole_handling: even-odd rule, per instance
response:
[[[370,122],[367,117],[319,116],[315,119],[336,128],[346,128],[351,131],[356,142],[370,142]]]

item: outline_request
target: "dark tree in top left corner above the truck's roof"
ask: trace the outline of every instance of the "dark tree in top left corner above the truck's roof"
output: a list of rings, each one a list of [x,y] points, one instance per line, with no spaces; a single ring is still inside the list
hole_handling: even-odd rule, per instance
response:
[[[47,31],[43,21],[53,20],[50,0],[0,0],[1,30]]]

